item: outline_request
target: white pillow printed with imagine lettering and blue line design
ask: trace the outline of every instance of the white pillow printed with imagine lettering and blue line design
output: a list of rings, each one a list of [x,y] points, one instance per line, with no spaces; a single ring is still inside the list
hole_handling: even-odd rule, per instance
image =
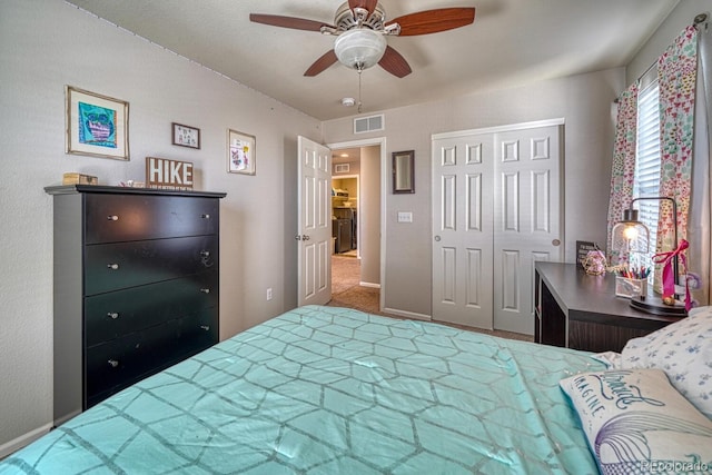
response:
[[[562,379],[603,474],[710,473],[712,420],[660,369]]]

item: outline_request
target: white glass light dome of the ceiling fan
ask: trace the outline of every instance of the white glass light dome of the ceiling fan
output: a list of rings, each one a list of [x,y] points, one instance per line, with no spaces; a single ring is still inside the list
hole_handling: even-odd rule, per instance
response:
[[[386,46],[383,34],[368,28],[355,28],[336,38],[334,52],[342,65],[362,70],[380,61]]]

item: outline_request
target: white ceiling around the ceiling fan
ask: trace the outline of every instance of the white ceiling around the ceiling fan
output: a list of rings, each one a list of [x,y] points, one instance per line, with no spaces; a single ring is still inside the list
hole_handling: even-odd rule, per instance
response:
[[[362,77],[363,112],[625,66],[668,13],[671,0],[382,0],[386,19],[475,7],[475,22],[419,37],[388,37],[413,72],[380,67]],[[249,13],[334,22],[342,0],[69,0],[319,120],[357,113],[358,73],[334,65],[304,71],[335,37],[253,23]]]

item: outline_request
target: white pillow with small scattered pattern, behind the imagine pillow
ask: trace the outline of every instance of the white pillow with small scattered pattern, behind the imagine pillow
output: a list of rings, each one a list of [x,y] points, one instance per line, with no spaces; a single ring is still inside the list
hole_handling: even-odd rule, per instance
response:
[[[698,409],[712,418],[712,307],[650,335],[632,338],[612,369],[659,368]]]

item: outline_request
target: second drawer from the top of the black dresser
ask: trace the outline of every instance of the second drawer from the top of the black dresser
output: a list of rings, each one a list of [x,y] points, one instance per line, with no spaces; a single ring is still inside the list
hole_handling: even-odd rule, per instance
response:
[[[85,248],[85,295],[199,274],[217,268],[218,237],[100,244]]]

